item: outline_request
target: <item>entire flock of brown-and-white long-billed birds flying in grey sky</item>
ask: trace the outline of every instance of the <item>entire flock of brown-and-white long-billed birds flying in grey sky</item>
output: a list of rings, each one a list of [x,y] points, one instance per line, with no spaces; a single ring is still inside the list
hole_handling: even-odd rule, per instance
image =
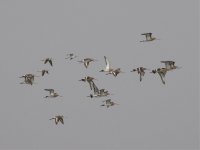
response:
[[[146,39],[143,40],[143,41],[140,41],[140,42],[150,42],[150,41],[156,40],[155,37],[152,37],[152,33],[143,33],[141,35],[145,35]],[[75,55],[74,53],[69,53],[69,54],[67,54],[65,59],[73,60],[73,59],[75,59],[77,57],[78,56]],[[121,71],[120,68],[116,68],[116,69],[115,68],[111,68],[110,62],[109,62],[109,60],[108,60],[108,58],[106,56],[104,56],[104,60],[105,60],[105,65],[106,66],[105,66],[104,69],[100,70],[99,72],[104,72],[104,73],[106,73],[106,75],[113,75],[114,77],[117,77],[117,75],[119,73],[124,73],[124,72]],[[43,61],[44,64],[49,63],[53,67],[53,59],[52,58],[45,58],[45,59],[43,59],[41,61]],[[94,61],[97,61],[97,60],[93,59],[93,58],[84,58],[83,60],[80,60],[78,62],[79,63],[83,63],[84,67],[87,69],[89,67],[90,63],[94,62]],[[171,61],[171,60],[170,61],[161,61],[161,63],[164,63],[165,67],[157,68],[157,69],[154,69],[154,70],[150,70],[150,69],[145,68],[145,67],[138,67],[138,68],[132,69],[130,72],[137,72],[138,75],[139,75],[139,80],[141,82],[142,78],[145,75],[145,72],[148,70],[148,71],[150,71],[150,73],[158,74],[160,76],[160,79],[161,79],[162,83],[165,84],[165,75],[166,75],[166,73],[168,71],[179,69],[181,67],[175,66],[175,62]],[[38,72],[41,72],[42,76],[44,76],[45,74],[49,74],[49,71],[45,70],[45,69],[41,70],[41,71],[38,71]],[[30,73],[29,74],[25,74],[25,75],[20,77],[20,78],[24,78],[24,81],[21,82],[20,84],[33,85],[35,77],[39,77],[39,76],[34,75],[34,74],[30,74]],[[105,89],[99,89],[96,86],[94,80],[96,80],[96,79],[94,77],[91,77],[91,76],[86,76],[86,77],[84,77],[84,78],[79,80],[79,81],[87,82],[89,84],[90,90],[93,91],[93,94],[90,94],[88,97],[90,97],[90,98],[98,98],[98,97],[106,97],[108,95],[112,95]],[[49,95],[45,96],[44,98],[62,97],[57,92],[55,92],[54,89],[44,89],[44,90],[49,92]],[[102,105],[101,106],[109,108],[109,107],[114,106],[114,105],[119,105],[119,104],[114,102],[111,99],[106,99],[106,100],[102,101]],[[49,120],[54,120],[56,125],[59,122],[64,124],[64,116],[63,115],[56,115],[55,117],[52,117]]]

